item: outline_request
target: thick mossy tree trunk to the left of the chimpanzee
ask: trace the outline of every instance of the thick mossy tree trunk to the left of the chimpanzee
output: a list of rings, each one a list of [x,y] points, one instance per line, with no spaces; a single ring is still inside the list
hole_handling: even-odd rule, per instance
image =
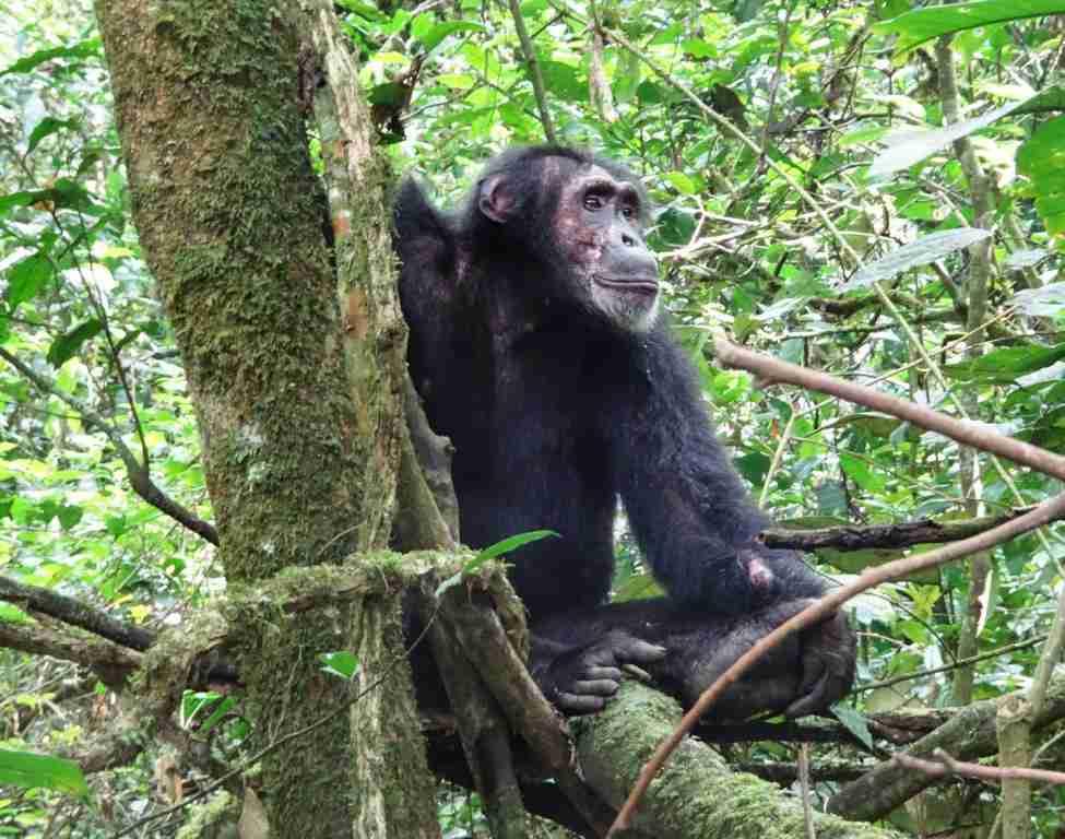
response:
[[[365,354],[352,371],[288,9],[97,0],[96,11],[134,221],[200,423],[241,630],[230,652],[257,735],[279,744],[263,760],[272,835],[438,835],[394,602],[284,615],[257,598],[257,582],[286,568],[387,539],[395,465],[381,452],[399,446],[380,429],[402,425],[397,388],[381,389],[383,409],[363,399]],[[341,649],[362,650],[368,681],[386,676],[376,700],[283,741],[343,710],[348,686],[317,660]],[[367,759],[375,745],[379,760]]]

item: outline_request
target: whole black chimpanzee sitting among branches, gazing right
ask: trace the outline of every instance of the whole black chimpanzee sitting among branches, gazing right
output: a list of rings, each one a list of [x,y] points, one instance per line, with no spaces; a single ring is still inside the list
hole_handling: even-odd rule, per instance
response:
[[[602,708],[624,663],[690,702],[826,588],[757,541],[768,520],[659,315],[647,216],[628,169],[553,146],[493,159],[453,214],[410,179],[395,202],[411,375],[454,445],[462,540],[561,535],[509,558],[530,669],[569,713]],[[618,496],[665,599],[604,605]],[[836,615],[778,649],[715,717],[819,710],[853,672]]]

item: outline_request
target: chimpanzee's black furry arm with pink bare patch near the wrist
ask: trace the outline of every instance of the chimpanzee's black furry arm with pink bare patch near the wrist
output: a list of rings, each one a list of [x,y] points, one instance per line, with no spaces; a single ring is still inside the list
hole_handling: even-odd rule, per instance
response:
[[[718,442],[695,371],[665,328],[638,353],[628,404],[611,417],[612,454],[632,530],[670,596],[739,614],[820,595],[824,581],[797,555],[755,541],[769,520]]]

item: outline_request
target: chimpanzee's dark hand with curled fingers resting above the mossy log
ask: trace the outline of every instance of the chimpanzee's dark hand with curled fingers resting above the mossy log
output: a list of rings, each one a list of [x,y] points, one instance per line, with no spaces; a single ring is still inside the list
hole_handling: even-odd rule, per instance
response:
[[[664,647],[613,630],[597,641],[542,662],[533,675],[540,689],[560,711],[594,713],[622,683],[622,665],[649,665],[665,658]]]

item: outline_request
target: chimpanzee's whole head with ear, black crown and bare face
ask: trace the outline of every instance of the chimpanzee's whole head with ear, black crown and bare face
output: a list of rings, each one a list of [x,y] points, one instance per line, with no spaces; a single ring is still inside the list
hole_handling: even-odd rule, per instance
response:
[[[658,265],[643,243],[649,209],[639,179],[624,166],[537,146],[492,162],[468,222],[495,227],[505,252],[518,260],[530,255],[543,267],[545,286],[534,293],[642,333],[659,309]]]

